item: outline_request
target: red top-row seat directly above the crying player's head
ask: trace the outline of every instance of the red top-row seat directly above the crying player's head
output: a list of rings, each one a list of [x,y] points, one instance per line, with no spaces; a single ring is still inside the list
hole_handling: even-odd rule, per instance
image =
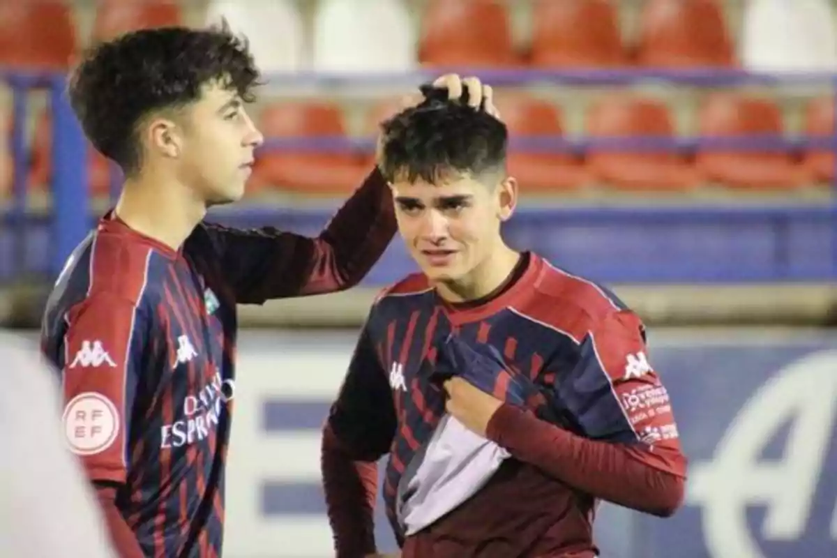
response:
[[[496,0],[429,0],[419,59],[425,66],[519,64],[506,6]]]

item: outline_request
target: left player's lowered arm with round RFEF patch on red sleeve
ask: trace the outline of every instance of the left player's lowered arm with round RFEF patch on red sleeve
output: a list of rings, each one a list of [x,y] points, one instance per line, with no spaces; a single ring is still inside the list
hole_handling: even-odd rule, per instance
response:
[[[64,432],[97,495],[116,550],[143,556],[136,536],[116,506],[125,483],[131,409],[148,344],[143,310],[111,294],[95,294],[67,317],[64,362]]]

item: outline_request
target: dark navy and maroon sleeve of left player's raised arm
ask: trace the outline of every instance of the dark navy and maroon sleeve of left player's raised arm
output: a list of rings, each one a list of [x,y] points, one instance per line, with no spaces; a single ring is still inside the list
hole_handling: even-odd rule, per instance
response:
[[[381,258],[396,231],[393,197],[377,168],[317,238],[275,228],[207,227],[242,304],[349,289]]]

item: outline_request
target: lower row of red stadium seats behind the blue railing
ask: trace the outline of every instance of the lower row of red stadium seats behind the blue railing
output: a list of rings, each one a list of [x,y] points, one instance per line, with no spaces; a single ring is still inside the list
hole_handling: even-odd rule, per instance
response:
[[[564,136],[562,110],[552,101],[521,92],[501,93],[498,105],[511,130],[512,141],[557,140]],[[377,123],[393,114],[394,101],[372,107],[362,123],[362,136],[371,137]],[[259,112],[264,135],[286,141],[316,138],[348,139],[345,115],[340,106],[321,100],[274,102]],[[701,137],[787,136],[783,118],[773,100],[744,94],[715,93],[701,103],[693,133]],[[664,101],[650,96],[609,95],[593,103],[585,115],[587,138],[669,138],[679,135]],[[811,100],[804,114],[803,133],[834,134],[834,100]],[[49,114],[37,118],[30,142],[31,166],[28,185],[40,189],[50,178]],[[370,150],[305,150],[293,145],[265,149],[259,154],[252,181],[253,192],[272,190],[302,195],[344,195],[372,166]],[[792,144],[790,144],[792,145]],[[833,151],[820,148],[737,151],[701,147],[666,151],[653,148],[597,149],[580,146],[578,151],[534,151],[512,148],[511,173],[525,194],[554,194],[588,185],[608,185],[627,191],[687,192],[704,183],[735,190],[787,191],[814,183],[834,181]],[[90,187],[107,192],[110,170],[103,156],[90,150]],[[6,182],[8,188],[8,177]]]

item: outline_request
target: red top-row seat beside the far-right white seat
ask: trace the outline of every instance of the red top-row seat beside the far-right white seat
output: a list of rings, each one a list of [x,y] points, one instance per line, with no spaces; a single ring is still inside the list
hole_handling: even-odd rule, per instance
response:
[[[647,0],[636,59],[656,68],[736,64],[719,0]]]

